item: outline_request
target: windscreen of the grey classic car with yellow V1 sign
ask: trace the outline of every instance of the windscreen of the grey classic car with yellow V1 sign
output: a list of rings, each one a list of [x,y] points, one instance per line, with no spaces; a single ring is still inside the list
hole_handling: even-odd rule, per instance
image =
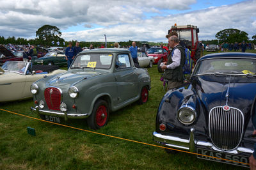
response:
[[[112,59],[112,54],[81,54],[76,57],[70,68],[109,69],[111,67]]]

